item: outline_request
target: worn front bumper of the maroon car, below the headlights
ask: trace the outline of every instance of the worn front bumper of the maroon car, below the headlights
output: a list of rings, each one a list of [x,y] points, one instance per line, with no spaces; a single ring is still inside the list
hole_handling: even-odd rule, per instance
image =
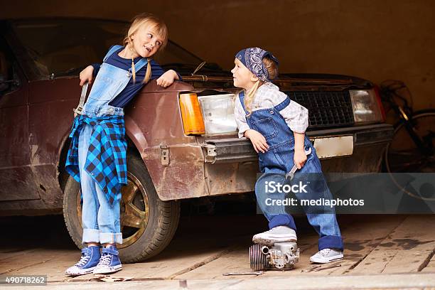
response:
[[[321,159],[324,173],[375,173],[380,171],[382,156],[393,133],[391,125],[375,124],[308,131],[307,136],[314,141],[315,147],[316,139],[353,136],[351,154]],[[259,166],[257,153],[249,140],[210,138],[204,139],[202,144],[208,195],[254,190]]]

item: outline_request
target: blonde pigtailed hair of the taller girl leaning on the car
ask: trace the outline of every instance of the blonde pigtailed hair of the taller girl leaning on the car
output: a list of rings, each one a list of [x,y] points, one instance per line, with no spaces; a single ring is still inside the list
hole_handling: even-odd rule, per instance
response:
[[[166,24],[157,16],[148,13],[142,13],[134,16],[131,20],[131,25],[129,30],[127,31],[127,36],[124,37],[122,41],[123,45],[132,50],[133,45],[131,43],[131,36],[136,33],[141,26],[149,26],[151,28],[156,28],[156,33],[162,38],[162,43],[159,47],[159,50],[165,48],[168,43],[168,27]],[[134,63],[131,62],[131,74],[133,75],[133,82],[136,82],[136,70],[134,69]],[[144,82],[148,82],[151,77],[151,68],[147,68],[146,75],[144,77]],[[148,80],[147,80],[148,79]]]

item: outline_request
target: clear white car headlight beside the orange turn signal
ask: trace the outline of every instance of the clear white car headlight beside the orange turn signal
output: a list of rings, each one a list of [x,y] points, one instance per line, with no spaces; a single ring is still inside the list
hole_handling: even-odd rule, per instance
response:
[[[234,117],[234,94],[198,97],[203,113],[205,134],[224,134],[237,131]]]

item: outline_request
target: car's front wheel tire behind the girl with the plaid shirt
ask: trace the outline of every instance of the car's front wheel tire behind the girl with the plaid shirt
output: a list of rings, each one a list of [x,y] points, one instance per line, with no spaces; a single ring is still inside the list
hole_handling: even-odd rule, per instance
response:
[[[146,208],[148,208],[146,221],[141,222],[141,230],[136,231],[133,238],[131,236],[124,237],[125,230],[122,230],[123,244],[117,245],[121,261],[123,263],[133,263],[154,257],[171,242],[178,227],[180,203],[178,200],[160,200],[151,177],[144,166],[144,162],[139,156],[129,154],[127,165],[129,184],[124,186],[124,188],[129,188],[131,184],[135,188],[139,188],[139,194],[135,193],[136,197],[139,195],[139,198],[135,197],[135,200],[139,200],[139,202],[135,201],[135,203],[139,203],[137,206],[140,207],[141,198],[143,198],[143,200],[146,200],[146,202],[143,202],[143,205],[147,205]],[[121,203],[123,206],[125,192],[122,191],[122,193],[123,199]],[[122,206],[121,208],[123,208]],[[126,213],[127,211],[123,213],[121,209],[122,225],[124,224],[123,217]],[[66,182],[63,195],[63,217],[75,245],[79,248],[83,247],[80,183],[77,183],[71,176]],[[123,228],[125,229],[126,227]],[[134,230],[134,227],[129,227],[130,231],[131,229]]]

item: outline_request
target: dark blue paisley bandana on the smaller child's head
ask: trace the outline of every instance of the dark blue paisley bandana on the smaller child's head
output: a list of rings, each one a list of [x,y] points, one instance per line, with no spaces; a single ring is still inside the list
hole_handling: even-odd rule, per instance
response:
[[[263,58],[265,56],[269,56],[276,62],[276,65],[279,64],[278,60],[269,53],[269,51],[262,50],[261,48],[245,48],[240,50],[236,54],[236,58],[240,60],[248,70],[250,70],[259,80],[263,82],[270,82],[269,73],[267,72],[267,68],[263,65]]]

